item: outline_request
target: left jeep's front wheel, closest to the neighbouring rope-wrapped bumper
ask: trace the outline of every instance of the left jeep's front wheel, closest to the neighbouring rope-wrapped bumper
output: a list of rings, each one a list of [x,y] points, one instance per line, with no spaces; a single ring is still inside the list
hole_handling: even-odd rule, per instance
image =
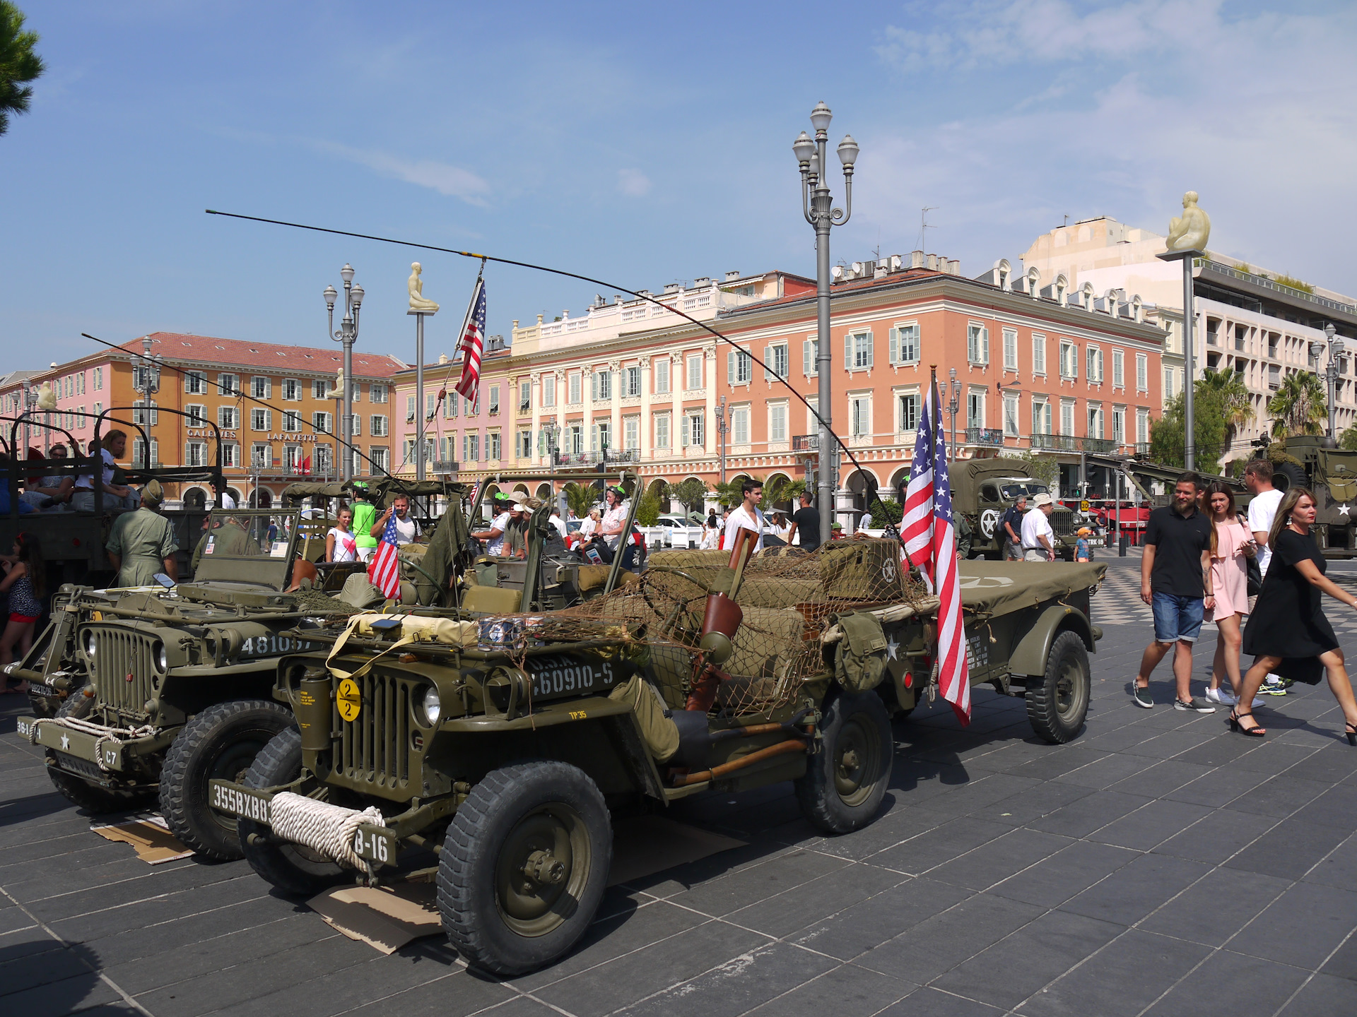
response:
[[[292,713],[269,700],[218,702],[185,724],[160,767],[160,815],[185,848],[217,861],[244,857],[235,816],[208,804],[208,781],[240,781],[290,724]]]

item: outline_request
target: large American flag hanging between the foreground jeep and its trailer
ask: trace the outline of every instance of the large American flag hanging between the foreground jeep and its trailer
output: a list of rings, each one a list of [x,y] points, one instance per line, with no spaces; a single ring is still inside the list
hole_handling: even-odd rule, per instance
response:
[[[900,523],[909,564],[917,565],[938,594],[938,685],[962,725],[970,723],[970,673],[966,667],[966,628],[961,618],[961,576],[957,571],[957,527],[953,522],[951,483],[947,479],[947,439],[936,384],[924,400],[915,438],[915,461],[905,488]]]

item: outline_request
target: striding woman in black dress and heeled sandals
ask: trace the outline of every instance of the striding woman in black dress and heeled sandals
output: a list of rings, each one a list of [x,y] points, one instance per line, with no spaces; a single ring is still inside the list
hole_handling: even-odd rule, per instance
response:
[[[1349,607],[1357,607],[1357,597],[1324,578],[1324,557],[1319,553],[1310,527],[1315,522],[1315,496],[1303,487],[1286,491],[1267,546],[1273,549],[1272,564],[1258,591],[1258,603],[1244,628],[1244,652],[1258,659],[1244,675],[1239,705],[1229,713],[1229,730],[1261,738],[1267,734],[1253,717],[1254,696],[1263,679],[1276,671],[1284,659],[1318,659],[1329,673],[1329,687],[1342,706],[1348,743],[1357,746],[1357,700],[1348,681],[1343,651],[1338,647],[1333,625],[1320,606],[1320,593]],[[1312,669],[1314,683],[1319,682],[1319,669]],[[1305,678],[1300,678],[1305,681]]]

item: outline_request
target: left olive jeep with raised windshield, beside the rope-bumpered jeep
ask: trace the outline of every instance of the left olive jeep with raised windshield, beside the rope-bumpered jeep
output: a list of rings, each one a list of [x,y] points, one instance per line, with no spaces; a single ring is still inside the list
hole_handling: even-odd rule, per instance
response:
[[[297,510],[210,518],[191,583],[62,587],[52,625],[12,675],[28,679],[35,708],[19,734],[46,750],[62,795],[92,812],[157,796],[187,848],[237,858],[235,823],[208,807],[208,780],[243,774],[292,724],[273,694],[277,659],[307,647],[320,618],[353,609],[320,591],[285,593]],[[285,540],[269,538],[270,521]]]

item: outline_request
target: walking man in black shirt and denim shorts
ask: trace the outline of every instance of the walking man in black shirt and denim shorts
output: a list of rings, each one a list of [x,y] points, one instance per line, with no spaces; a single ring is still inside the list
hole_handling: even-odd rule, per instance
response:
[[[1145,527],[1145,555],[1140,560],[1140,599],[1153,607],[1155,641],[1140,659],[1133,692],[1137,706],[1152,709],[1149,673],[1174,651],[1174,678],[1178,697],[1174,709],[1198,713],[1215,711],[1206,700],[1191,694],[1191,648],[1201,632],[1205,607],[1215,606],[1210,595],[1210,521],[1197,511],[1201,477],[1183,473],[1174,484],[1171,506],[1155,509]]]

